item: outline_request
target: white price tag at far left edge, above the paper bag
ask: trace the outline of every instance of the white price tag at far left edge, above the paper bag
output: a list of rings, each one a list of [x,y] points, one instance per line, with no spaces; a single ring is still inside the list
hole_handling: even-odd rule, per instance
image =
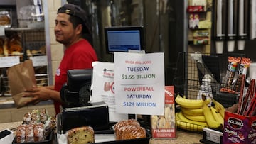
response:
[[[20,63],[19,56],[0,57],[0,67],[11,67]]]

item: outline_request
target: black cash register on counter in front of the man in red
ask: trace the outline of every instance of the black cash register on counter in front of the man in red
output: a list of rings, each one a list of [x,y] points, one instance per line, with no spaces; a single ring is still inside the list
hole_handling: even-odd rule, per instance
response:
[[[68,70],[67,83],[60,90],[62,110],[57,115],[57,131],[91,126],[95,131],[110,129],[109,111],[105,102],[90,102],[92,69]]]

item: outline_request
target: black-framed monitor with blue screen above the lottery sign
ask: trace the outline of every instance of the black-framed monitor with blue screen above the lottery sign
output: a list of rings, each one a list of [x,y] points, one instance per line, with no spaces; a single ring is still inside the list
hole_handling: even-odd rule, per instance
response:
[[[144,31],[141,26],[105,27],[108,53],[144,50]]]

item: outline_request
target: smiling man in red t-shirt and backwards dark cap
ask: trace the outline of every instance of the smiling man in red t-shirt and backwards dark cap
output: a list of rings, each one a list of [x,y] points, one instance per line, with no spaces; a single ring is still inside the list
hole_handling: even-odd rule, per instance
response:
[[[65,4],[58,9],[55,19],[55,38],[65,46],[63,59],[55,73],[55,85],[27,89],[23,96],[33,96],[27,104],[38,104],[40,101],[52,99],[55,113],[60,113],[60,89],[67,82],[67,71],[73,69],[92,68],[92,62],[97,61],[95,50],[89,41],[82,38],[90,34],[87,26],[87,15],[83,9],[73,4]]]

